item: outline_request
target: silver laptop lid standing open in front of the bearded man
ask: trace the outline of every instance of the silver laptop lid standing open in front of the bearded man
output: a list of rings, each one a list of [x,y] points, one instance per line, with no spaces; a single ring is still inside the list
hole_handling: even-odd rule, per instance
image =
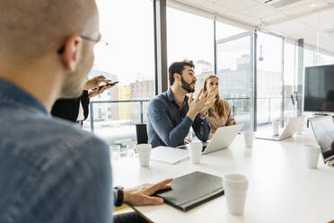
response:
[[[243,124],[224,126],[215,130],[215,135],[204,145],[202,154],[208,154],[229,147],[237,133],[242,129]]]

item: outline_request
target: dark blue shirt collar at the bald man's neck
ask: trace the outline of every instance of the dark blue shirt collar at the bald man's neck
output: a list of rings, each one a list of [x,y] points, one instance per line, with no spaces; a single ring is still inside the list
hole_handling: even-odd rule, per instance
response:
[[[37,98],[25,92],[22,88],[0,78],[0,102],[4,99],[15,103],[22,103],[45,114],[49,113],[43,103]]]

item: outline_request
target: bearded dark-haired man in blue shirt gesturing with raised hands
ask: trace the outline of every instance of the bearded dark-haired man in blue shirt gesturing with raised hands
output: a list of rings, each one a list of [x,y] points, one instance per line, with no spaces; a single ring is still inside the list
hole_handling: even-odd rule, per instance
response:
[[[209,138],[211,128],[207,111],[215,103],[215,93],[200,92],[193,99],[198,80],[194,68],[191,60],[172,63],[169,67],[170,88],[149,103],[147,135],[152,147],[183,145],[191,127],[203,142]]]

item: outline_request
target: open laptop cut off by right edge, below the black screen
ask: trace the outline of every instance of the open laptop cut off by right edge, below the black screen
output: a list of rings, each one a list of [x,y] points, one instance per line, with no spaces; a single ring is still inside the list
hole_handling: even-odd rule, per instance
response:
[[[310,119],[314,136],[321,147],[323,162],[334,165],[334,123],[332,117]]]

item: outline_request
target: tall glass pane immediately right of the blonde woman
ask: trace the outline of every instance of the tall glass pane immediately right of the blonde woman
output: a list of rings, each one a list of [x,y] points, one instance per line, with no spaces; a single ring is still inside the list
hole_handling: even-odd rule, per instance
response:
[[[230,104],[237,124],[253,129],[253,33],[217,39],[219,93]]]

